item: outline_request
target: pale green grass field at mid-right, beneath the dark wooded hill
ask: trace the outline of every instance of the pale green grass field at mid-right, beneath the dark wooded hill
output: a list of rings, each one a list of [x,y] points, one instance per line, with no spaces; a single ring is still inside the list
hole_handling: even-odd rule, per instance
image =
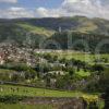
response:
[[[45,53],[47,53],[45,51]],[[90,55],[90,53],[84,53],[84,52],[78,52],[78,51],[51,51],[49,52],[51,56],[58,56],[59,59],[65,58],[65,59],[75,59],[75,60],[81,60],[81,61],[85,61],[89,64],[94,64],[95,59],[102,59],[102,58],[107,58],[108,59],[108,63],[109,63],[109,55],[108,53],[104,53],[104,55]]]

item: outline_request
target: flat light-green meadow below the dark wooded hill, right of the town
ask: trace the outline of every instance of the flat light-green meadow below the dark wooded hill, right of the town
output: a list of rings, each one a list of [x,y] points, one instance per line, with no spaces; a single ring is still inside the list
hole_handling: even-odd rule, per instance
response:
[[[73,50],[51,50],[40,52],[39,55],[47,55],[50,53],[51,56],[58,56],[58,59],[75,59],[80,61],[87,62],[88,64],[95,64],[95,60],[107,59],[107,62],[99,62],[99,64],[109,64],[109,53],[89,53],[89,52],[82,52],[82,51],[73,51]]]

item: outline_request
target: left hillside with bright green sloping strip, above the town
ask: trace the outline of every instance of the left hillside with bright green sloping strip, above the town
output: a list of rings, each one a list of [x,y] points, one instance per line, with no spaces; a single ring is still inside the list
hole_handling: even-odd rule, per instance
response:
[[[36,46],[39,40],[45,37],[50,37],[55,31],[46,29],[45,27],[33,26],[27,23],[1,22],[0,23],[0,41],[14,41],[20,45],[31,39]]]

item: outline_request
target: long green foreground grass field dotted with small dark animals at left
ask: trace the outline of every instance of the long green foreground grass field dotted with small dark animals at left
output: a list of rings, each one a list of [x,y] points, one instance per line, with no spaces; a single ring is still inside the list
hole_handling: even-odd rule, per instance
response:
[[[83,95],[93,95],[84,94],[82,92],[65,92],[65,90],[51,90],[43,88],[34,88],[26,86],[12,86],[12,85],[0,85],[0,95],[19,95],[19,96],[28,96],[28,97],[82,97]],[[95,95],[94,95],[95,97]],[[96,96],[97,97],[97,96]]]

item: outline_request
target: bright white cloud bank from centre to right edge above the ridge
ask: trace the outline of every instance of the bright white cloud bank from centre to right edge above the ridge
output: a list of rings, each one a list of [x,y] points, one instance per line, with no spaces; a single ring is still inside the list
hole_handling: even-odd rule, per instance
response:
[[[58,9],[39,8],[36,12],[40,17],[85,15],[109,19],[108,10],[109,2],[104,4],[101,0],[64,0]]]

